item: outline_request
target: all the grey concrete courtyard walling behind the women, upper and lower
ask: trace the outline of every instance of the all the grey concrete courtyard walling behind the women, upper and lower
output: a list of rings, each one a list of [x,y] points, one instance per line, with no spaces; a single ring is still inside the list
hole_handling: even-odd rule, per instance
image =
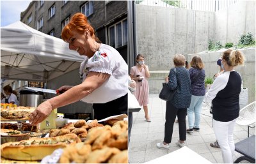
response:
[[[193,11],[136,4],[137,52],[145,55],[150,70],[150,93],[161,91],[164,77],[173,67],[174,54],[191,55],[207,50],[208,41],[237,43],[241,34],[255,37],[255,1],[239,1],[217,12]],[[249,101],[255,100],[255,48],[244,50],[246,64],[237,71],[248,87]],[[204,54],[207,76],[219,70],[216,60],[221,52]],[[189,57],[190,56],[190,57]],[[203,55],[201,55],[203,56]]]

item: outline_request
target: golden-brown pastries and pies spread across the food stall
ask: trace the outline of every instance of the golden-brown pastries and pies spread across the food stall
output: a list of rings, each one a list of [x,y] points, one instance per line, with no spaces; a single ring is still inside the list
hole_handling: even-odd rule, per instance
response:
[[[1,163],[38,163],[58,150],[61,153],[56,163],[128,163],[127,121],[108,119],[86,123],[72,120],[61,128],[48,131],[38,130],[29,123],[22,123],[21,130],[18,130],[19,123],[4,123],[26,121],[33,110],[35,108],[31,107],[1,108],[1,138],[27,137],[1,143]],[[49,137],[44,137],[47,132]]]

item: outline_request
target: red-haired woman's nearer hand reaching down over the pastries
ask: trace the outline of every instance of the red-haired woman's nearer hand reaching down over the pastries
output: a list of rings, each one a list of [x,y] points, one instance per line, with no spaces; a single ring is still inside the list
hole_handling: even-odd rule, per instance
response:
[[[30,114],[29,123],[32,125],[39,124],[44,121],[44,119],[46,119],[46,117],[48,117],[51,112],[52,105],[50,101],[45,101],[44,103],[41,103],[33,113]]]

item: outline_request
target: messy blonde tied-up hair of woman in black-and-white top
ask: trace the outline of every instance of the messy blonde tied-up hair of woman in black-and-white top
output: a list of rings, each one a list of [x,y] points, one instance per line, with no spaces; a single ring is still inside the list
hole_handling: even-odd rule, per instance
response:
[[[238,66],[244,64],[244,55],[240,50],[228,49],[223,52],[222,59],[226,61],[228,66]]]

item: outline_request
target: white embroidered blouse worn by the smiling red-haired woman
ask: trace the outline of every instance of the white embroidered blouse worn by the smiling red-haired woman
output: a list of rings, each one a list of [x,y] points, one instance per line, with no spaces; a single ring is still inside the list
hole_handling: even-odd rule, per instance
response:
[[[101,44],[99,51],[84,58],[80,66],[80,77],[84,81],[90,71],[108,73],[110,77],[102,86],[98,87],[81,101],[86,103],[107,103],[127,94],[128,66],[119,52],[105,44]]]

